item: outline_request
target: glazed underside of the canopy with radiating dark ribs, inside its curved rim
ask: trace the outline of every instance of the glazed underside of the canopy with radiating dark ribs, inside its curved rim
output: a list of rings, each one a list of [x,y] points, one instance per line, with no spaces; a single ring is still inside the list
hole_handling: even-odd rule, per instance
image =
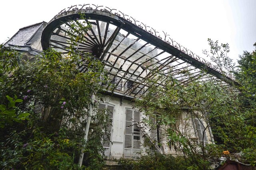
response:
[[[152,45],[154,42],[151,44],[142,40],[138,33],[118,28],[113,22],[92,19],[88,21],[91,28],[82,35],[70,27],[70,24],[81,24],[82,20],[65,22],[58,26],[50,36],[49,45],[58,51],[68,53],[68,30],[71,30],[72,34],[84,36],[86,41],[79,42],[77,50],[90,52],[104,62],[105,69],[112,83],[116,84],[116,92],[119,94],[140,97],[154,84],[147,83],[147,79],[157,81],[155,85],[161,85],[164,80],[158,80],[156,72],[171,74],[184,85],[192,81],[216,79],[213,75],[202,73],[202,70],[182,60],[180,56],[174,56],[167,52],[168,50],[155,46],[156,44]],[[78,69],[85,71],[86,65],[80,65]]]

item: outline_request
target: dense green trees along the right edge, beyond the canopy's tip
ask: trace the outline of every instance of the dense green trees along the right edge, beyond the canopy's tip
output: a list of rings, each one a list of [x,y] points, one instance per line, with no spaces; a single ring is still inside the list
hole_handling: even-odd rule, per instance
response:
[[[223,104],[211,111],[210,120],[215,141],[217,144],[223,144],[220,145],[223,150],[229,150],[231,153],[240,152],[242,155],[246,155],[243,162],[255,165],[256,127],[254,122],[256,105],[254,75],[256,67],[254,60],[256,53],[255,51],[252,53],[245,51],[238,60],[238,69],[235,69],[227,53],[223,53],[223,51],[228,51],[228,44],[219,46],[218,42],[213,43],[210,39],[208,42],[211,47],[212,58],[215,59],[214,61],[219,67],[226,70],[223,74],[230,75],[230,73],[234,73],[230,77],[235,77],[240,84],[240,86],[234,85],[239,93],[232,90],[228,91],[226,97],[220,97],[220,99],[223,99]],[[221,55],[215,55],[216,53],[212,52],[214,50],[220,52]],[[222,60],[219,59],[220,57]]]

